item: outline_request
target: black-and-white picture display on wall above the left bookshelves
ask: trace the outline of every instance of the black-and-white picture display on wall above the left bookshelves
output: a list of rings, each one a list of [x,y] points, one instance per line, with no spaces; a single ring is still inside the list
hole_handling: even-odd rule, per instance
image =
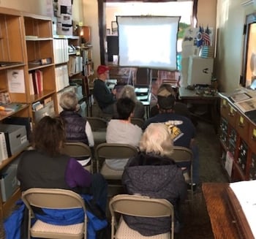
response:
[[[57,34],[72,35],[72,0],[53,0],[53,12],[57,19]]]

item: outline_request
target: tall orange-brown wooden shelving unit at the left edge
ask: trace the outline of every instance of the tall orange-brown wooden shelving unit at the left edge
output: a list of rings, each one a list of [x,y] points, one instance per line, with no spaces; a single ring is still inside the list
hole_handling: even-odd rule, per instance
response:
[[[20,72],[15,81],[10,72]],[[40,90],[34,91],[31,77],[40,72]],[[13,77],[13,75],[11,75]],[[35,122],[33,105],[53,103],[56,111],[55,64],[53,57],[52,20],[48,17],[0,7],[0,94],[8,94],[20,107],[10,114],[0,114],[0,124],[7,117],[26,117]],[[39,86],[37,86],[39,87]],[[0,172],[17,158],[22,150],[0,162]],[[7,216],[20,197],[20,189],[3,202],[0,194],[0,217]]]

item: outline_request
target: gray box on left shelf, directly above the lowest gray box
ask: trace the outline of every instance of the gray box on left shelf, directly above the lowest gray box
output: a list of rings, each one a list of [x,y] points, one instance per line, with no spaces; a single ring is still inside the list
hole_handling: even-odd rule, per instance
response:
[[[8,156],[12,156],[29,146],[26,126],[16,124],[0,124],[0,132],[4,132],[5,134]]]

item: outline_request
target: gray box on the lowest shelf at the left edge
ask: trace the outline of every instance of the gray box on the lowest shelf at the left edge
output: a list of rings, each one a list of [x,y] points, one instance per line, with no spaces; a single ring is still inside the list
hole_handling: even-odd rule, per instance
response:
[[[16,178],[17,167],[10,164],[10,166],[4,168],[1,171],[1,199],[3,202],[6,202],[12,194],[18,189],[18,180]]]

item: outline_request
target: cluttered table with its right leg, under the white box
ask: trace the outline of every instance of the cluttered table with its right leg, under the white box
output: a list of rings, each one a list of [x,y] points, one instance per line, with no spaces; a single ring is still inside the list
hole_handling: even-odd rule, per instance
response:
[[[189,90],[186,87],[178,88],[179,99],[184,103],[192,105],[207,105],[211,113],[211,124],[214,125],[215,132],[219,129],[219,95],[197,94],[196,90]],[[204,118],[205,119],[205,118]]]

